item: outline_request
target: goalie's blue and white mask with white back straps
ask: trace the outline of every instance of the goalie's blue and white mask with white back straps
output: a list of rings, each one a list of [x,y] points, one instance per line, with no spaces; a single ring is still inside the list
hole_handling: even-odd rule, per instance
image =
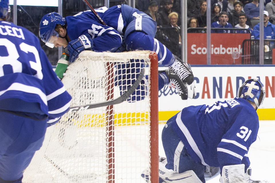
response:
[[[255,102],[257,108],[264,102],[266,92],[257,78],[247,79],[238,89],[238,97]]]

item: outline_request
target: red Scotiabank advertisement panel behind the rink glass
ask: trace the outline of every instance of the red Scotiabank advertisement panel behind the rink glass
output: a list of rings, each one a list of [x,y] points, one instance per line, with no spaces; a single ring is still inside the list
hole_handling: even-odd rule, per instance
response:
[[[206,33],[187,33],[187,59],[192,64],[207,64]],[[241,64],[242,43],[250,33],[212,33],[211,64]],[[232,55],[238,52],[239,58]]]

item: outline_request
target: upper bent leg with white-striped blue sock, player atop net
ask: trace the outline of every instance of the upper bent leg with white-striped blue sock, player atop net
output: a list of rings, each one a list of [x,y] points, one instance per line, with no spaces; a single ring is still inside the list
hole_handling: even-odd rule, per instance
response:
[[[150,50],[158,54],[158,64],[171,66],[174,61],[174,55],[160,41],[146,35],[143,32],[134,31],[125,38],[126,49],[134,50]]]

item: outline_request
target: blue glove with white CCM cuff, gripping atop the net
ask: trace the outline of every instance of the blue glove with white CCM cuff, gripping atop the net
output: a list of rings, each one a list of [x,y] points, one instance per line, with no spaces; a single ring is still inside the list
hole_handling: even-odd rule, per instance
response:
[[[81,35],[78,39],[70,41],[67,46],[70,55],[69,61],[74,62],[81,51],[92,50],[93,47],[93,39],[89,34]]]

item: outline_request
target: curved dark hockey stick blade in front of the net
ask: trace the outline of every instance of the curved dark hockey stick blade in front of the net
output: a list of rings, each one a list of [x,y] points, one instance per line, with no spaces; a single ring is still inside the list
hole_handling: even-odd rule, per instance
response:
[[[137,77],[137,80],[135,80],[135,83],[133,83],[133,85],[120,97],[118,97],[114,100],[106,101],[106,102],[99,102],[96,104],[88,104],[88,105],[71,107],[68,112],[87,110],[87,109],[92,109],[92,108],[99,108],[99,107],[103,107],[103,106],[111,106],[111,105],[120,104],[121,102],[124,102],[140,85],[140,82],[143,79],[144,73],[145,73],[145,69],[142,68],[140,71],[140,75]]]

